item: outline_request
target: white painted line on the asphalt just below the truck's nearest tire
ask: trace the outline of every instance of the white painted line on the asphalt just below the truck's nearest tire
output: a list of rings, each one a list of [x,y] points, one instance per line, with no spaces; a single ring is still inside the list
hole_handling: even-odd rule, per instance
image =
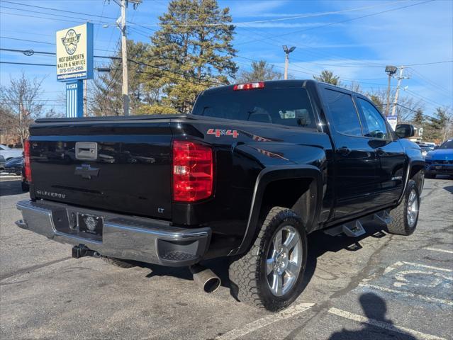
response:
[[[276,314],[267,315],[266,317],[257,319],[254,322],[245,324],[241,328],[233,329],[226,332],[225,334],[217,336],[216,340],[233,340],[240,338],[241,336],[252,333],[252,331],[257,331],[258,329],[269,326],[269,324],[273,324],[274,322],[289,319],[296,316],[297,314],[301,314],[302,312],[309,310],[314,305],[314,303],[301,303],[299,305],[290,306],[286,308],[286,310],[282,310],[281,312],[278,312]]]

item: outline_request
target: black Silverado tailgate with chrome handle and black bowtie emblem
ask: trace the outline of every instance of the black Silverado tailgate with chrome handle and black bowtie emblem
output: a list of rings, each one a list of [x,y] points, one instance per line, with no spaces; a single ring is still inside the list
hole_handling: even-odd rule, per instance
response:
[[[30,129],[32,196],[171,219],[169,118],[68,121]]]

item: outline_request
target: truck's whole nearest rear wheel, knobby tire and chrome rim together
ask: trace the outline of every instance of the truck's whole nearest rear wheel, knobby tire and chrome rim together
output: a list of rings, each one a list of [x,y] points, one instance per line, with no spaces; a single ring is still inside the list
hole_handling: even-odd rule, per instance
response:
[[[303,290],[306,259],[301,218],[292,210],[272,208],[250,251],[230,265],[237,298],[272,312],[289,306]]]

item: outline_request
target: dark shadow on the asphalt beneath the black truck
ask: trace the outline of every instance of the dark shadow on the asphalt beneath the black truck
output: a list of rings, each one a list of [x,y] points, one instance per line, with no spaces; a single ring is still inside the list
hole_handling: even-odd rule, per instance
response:
[[[347,237],[344,235],[338,235],[332,237],[328,234],[324,234],[322,231],[313,232],[308,236],[308,258],[306,264],[306,272],[303,278],[303,289],[306,288],[308,283],[311,281],[313,274],[315,273],[318,258],[328,252],[337,252],[342,249],[349,251],[360,251],[362,246],[360,241],[367,237],[381,238],[386,237],[386,227],[383,223],[373,222],[372,224],[364,224],[367,231],[360,237]],[[165,266],[158,266],[150,263],[136,263],[142,268],[149,268],[150,273],[147,274],[147,278],[153,278],[155,276],[174,276],[185,280],[192,280],[192,274],[189,268],[172,268]],[[228,277],[228,266],[230,259],[214,259],[203,261],[201,264],[210,268],[214,273],[218,275],[222,281],[221,285],[225,288],[230,289],[230,294],[237,299],[237,288]]]

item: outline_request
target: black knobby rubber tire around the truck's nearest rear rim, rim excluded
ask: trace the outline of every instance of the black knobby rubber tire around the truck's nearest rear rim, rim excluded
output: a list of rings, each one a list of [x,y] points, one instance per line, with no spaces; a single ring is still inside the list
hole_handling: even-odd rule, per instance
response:
[[[281,297],[273,295],[267,284],[265,262],[272,237],[280,227],[291,225],[299,234],[302,245],[301,269],[291,290]],[[230,264],[229,276],[237,299],[248,305],[276,312],[289,306],[302,293],[306,268],[307,237],[300,217],[290,209],[272,208],[259,230],[255,243],[240,259]]]

